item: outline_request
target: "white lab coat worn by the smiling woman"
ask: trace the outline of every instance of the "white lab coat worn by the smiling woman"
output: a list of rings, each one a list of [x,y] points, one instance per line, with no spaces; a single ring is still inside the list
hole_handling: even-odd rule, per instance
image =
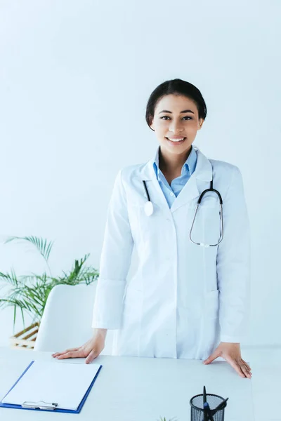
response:
[[[113,355],[206,359],[219,342],[241,342],[249,320],[250,240],[239,168],[207,159],[166,203],[148,163],[119,171],[110,200],[93,307],[93,328],[117,329]],[[223,199],[224,238],[204,248],[189,239],[197,200],[213,180]],[[143,181],[154,213],[147,216]],[[218,196],[208,192],[192,239],[216,243]],[[136,246],[138,265],[126,276]]]

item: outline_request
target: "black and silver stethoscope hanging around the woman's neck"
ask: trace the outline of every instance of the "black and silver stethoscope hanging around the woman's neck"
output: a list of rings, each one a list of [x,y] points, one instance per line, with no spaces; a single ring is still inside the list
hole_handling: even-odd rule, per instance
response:
[[[145,215],[150,216],[150,215],[152,215],[153,210],[154,210],[153,209],[153,203],[150,200],[150,194],[148,193],[148,187],[146,186],[145,180],[143,180],[143,185],[145,187],[145,193],[146,193],[146,196],[148,198],[148,201],[145,203],[145,206],[144,206]],[[221,234],[220,234],[220,238],[218,240],[218,243],[216,243],[216,244],[196,243],[196,241],[193,241],[192,238],[191,238],[192,228],[193,228],[195,218],[196,218],[196,215],[197,215],[197,210],[200,206],[200,203],[203,199],[204,194],[206,194],[207,192],[215,192],[218,195],[218,199],[219,199],[220,207],[221,207],[221,210],[219,211],[220,222],[221,222]],[[211,182],[210,182],[210,188],[204,190],[204,192],[202,192],[200,194],[200,197],[197,201],[197,206],[195,208],[194,218],[192,220],[192,225],[191,225],[191,228],[190,228],[189,238],[190,238],[190,241],[192,241],[192,243],[196,244],[197,246],[202,246],[202,247],[215,247],[215,246],[218,246],[218,244],[221,243],[221,241],[223,240],[223,199],[221,198],[220,192],[218,192],[218,190],[216,190],[216,189],[213,189],[213,180],[211,180]]]

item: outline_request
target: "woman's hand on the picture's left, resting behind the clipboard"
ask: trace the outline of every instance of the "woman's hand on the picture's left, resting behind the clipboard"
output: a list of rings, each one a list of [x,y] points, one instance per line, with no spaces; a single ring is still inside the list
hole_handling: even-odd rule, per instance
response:
[[[81,347],[66,349],[63,352],[55,352],[52,356],[56,359],[86,357],[85,363],[89,364],[103,351],[106,333],[107,329],[95,329],[93,338],[84,345],[81,345]]]

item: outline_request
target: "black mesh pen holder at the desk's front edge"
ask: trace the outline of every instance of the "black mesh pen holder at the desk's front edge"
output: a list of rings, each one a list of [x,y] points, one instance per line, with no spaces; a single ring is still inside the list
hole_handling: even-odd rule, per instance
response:
[[[205,420],[209,421],[224,421],[224,408],[226,408],[226,403],[223,404],[221,409],[216,408],[220,403],[222,403],[225,399],[221,396],[214,395],[214,394],[206,394],[207,402],[209,403],[209,407],[211,410],[211,417],[206,415]],[[191,415],[190,421],[204,421],[204,403],[203,403],[203,394],[193,396],[190,399],[190,406],[191,406]]]

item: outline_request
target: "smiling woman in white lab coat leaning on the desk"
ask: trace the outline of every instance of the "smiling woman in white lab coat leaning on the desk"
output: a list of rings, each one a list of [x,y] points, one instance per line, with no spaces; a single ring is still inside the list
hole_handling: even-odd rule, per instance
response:
[[[202,359],[205,364],[221,356],[241,377],[251,377],[240,352],[250,281],[242,175],[237,166],[207,159],[192,145],[206,115],[202,94],[187,81],[165,81],[150,95],[146,121],[159,147],[153,159],[123,168],[115,180],[93,338],[54,357],[81,356],[90,363],[102,351],[107,329],[115,329],[114,355]],[[192,225],[197,201],[211,180],[223,201],[223,231],[214,191],[204,194]],[[138,265],[127,282],[133,247]]]

